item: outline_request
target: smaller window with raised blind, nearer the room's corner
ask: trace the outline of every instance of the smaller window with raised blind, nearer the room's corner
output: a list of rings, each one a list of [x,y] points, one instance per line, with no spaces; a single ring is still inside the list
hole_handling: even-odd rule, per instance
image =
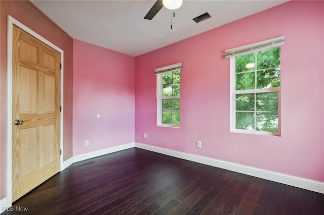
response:
[[[181,63],[155,69],[158,126],[180,127],[181,69]]]

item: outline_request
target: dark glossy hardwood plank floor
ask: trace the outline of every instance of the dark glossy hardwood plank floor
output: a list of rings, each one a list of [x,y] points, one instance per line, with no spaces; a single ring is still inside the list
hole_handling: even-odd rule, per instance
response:
[[[132,148],[71,165],[10,210],[3,215],[313,215],[324,214],[324,194]]]

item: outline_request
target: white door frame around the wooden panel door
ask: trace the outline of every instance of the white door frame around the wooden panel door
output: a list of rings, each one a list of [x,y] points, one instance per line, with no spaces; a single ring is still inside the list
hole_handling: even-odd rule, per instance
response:
[[[26,27],[21,22],[17,21],[11,16],[8,16],[8,47],[7,47],[7,205],[12,205],[12,55],[13,55],[13,25],[18,26],[23,29],[30,35],[34,36],[38,40],[41,40],[45,44],[54,48],[58,52],[61,53],[61,117],[60,117],[60,171],[63,169],[63,59],[64,59],[64,51],[32,31],[28,27]]]

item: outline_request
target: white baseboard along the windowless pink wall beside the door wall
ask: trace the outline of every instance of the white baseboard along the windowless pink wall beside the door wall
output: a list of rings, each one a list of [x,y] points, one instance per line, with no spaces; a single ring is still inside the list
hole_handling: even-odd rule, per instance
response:
[[[82,160],[90,159],[93,157],[98,157],[101,155],[109,154],[112,152],[121,151],[121,150],[128,149],[128,148],[134,148],[134,145],[135,145],[135,143],[132,142],[132,143],[124,144],[124,145],[114,146],[111,148],[101,149],[98,151],[92,151],[92,152],[85,153],[85,154],[75,155],[75,156],[73,156],[73,163],[80,162]]]

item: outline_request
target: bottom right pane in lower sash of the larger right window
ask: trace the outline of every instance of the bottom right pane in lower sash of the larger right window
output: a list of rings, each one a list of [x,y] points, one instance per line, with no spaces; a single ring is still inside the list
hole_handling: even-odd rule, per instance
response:
[[[278,131],[278,114],[277,113],[257,113],[257,131]]]

